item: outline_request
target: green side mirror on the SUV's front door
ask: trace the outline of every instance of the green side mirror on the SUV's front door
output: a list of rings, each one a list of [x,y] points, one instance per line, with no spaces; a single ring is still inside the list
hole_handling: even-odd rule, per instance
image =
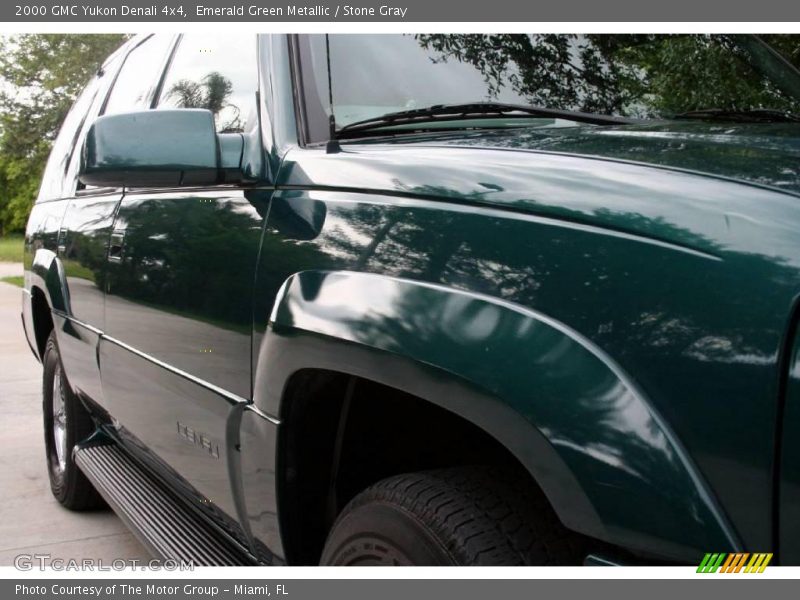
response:
[[[87,185],[175,187],[241,180],[244,139],[217,135],[209,110],[147,110],[98,118],[78,174]]]

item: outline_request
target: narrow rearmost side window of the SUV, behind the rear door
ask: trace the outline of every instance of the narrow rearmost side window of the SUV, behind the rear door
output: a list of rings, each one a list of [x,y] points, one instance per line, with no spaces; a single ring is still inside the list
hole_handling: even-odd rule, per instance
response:
[[[42,177],[42,185],[39,188],[37,202],[39,200],[63,198],[72,194],[71,190],[65,189],[69,187],[67,185],[67,170],[70,157],[73,153],[77,154],[74,151],[78,143],[81,126],[86,120],[89,108],[98,96],[101,79],[103,79],[103,71],[92,77],[92,80],[67,113],[56,141],[53,143],[53,148],[50,150],[50,157],[47,159],[47,166]]]

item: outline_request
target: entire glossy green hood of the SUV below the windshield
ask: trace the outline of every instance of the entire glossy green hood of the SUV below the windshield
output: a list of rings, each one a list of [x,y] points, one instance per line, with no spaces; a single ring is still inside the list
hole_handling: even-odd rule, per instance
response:
[[[514,211],[717,258],[745,252],[800,266],[800,125],[398,136],[295,148],[276,183]]]

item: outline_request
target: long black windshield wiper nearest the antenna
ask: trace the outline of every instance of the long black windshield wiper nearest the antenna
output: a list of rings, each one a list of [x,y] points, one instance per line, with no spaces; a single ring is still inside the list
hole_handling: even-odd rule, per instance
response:
[[[391,112],[379,117],[349,123],[337,129],[335,135],[337,139],[342,139],[376,133],[385,127],[399,125],[429,125],[431,123],[463,121],[466,119],[507,119],[514,117],[566,119],[595,125],[628,125],[636,122],[624,117],[528,106],[525,104],[472,102],[469,104],[436,104],[427,108]]]

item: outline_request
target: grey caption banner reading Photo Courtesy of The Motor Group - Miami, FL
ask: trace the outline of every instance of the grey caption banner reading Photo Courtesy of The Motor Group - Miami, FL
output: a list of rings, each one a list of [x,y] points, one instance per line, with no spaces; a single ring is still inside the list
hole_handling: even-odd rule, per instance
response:
[[[602,568],[602,567],[597,567]],[[752,598],[755,594],[792,597],[797,583],[788,579],[698,575],[693,579],[237,579],[120,580],[46,579],[0,584],[0,596],[14,600],[530,600],[531,598]],[[780,596],[779,596],[780,594]]]

